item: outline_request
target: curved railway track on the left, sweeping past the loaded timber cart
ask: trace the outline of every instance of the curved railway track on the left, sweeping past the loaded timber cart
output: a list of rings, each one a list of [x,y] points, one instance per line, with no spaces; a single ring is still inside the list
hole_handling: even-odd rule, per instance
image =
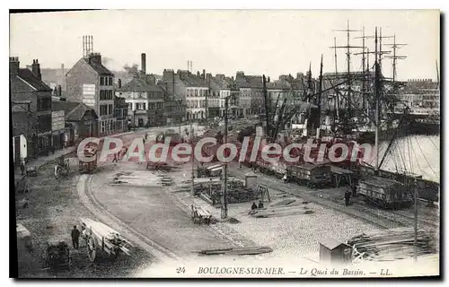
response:
[[[81,199],[81,202],[102,222],[110,225],[114,229],[119,230],[127,239],[130,239],[136,245],[144,248],[146,252],[156,257],[156,261],[166,262],[166,261],[177,261],[180,257],[173,253],[168,248],[163,247],[163,245],[149,239],[138,230],[129,226],[129,224],[122,222],[110,213],[106,208],[93,196],[92,191],[89,188],[90,182],[92,180],[92,175],[83,175],[78,181],[77,192]]]

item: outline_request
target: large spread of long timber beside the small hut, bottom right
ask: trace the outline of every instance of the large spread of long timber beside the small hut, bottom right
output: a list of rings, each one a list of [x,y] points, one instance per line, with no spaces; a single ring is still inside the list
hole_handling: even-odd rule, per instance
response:
[[[348,240],[357,255],[371,261],[394,261],[414,256],[414,229],[398,228],[365,232]],[[436,253],[431,234],[418,230],[418,256]]]

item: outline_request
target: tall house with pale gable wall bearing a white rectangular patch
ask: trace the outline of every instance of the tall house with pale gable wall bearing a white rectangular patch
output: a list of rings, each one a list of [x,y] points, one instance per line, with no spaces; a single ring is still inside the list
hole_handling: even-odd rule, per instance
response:
[[[99,135],[120,133],[126,119],[114,117],[114,74],[101,64],[101,54],[82,57],[66,74],[66,100],[82,102],[99,117]]]

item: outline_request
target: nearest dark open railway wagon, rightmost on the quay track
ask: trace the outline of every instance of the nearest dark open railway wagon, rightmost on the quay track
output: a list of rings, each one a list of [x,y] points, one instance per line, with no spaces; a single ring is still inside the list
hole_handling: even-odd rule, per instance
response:
[[[408,208],[413,198],[408,188],[399,181],[370,177],[358,181],[358,195],[365,196],[365,201],[389,209]]]

